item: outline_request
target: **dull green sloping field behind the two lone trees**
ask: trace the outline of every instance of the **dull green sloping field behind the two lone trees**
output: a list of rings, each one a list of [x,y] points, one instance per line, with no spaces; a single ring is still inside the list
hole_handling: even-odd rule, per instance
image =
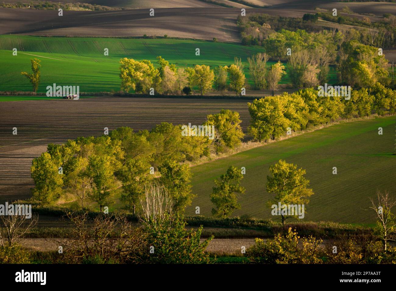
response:
[[[228,158],[192,167],[193,192],[197,197],[187,215],[200,207],[202,215],[211,215],[210,193],[213,180],[230,165],[246,167],[240,197],[242,209],[234,215],[276,219],[266,203],[273,197],[266,192],[268,168],[280,159],[306,169],[314,190],[303,221],[372,223],[369,198],[377,189],[395,192],[396,155],[394,151],[395,116],[342,123],[240,152]],[[378,135],[383,127],[383,135]],[[337,175],[332,168],[337,167]]]

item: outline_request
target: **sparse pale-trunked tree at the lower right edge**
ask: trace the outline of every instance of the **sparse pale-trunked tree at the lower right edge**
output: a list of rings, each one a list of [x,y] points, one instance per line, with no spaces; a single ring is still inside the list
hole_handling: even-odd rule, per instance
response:
[[[378,201],[374,202],[373,199],[370,200],[373,205],[370,208],[375,211],[379,219],[380,236],[384,245],[384,250],[386,251],[388,241],[396,241],[393,239],[396,234],[396,219],[395,215],[392,213],[392,208],[396,205],[396,200],[394,197],[391,197],[387,191],[385,191],[384,194],[377,191]]]

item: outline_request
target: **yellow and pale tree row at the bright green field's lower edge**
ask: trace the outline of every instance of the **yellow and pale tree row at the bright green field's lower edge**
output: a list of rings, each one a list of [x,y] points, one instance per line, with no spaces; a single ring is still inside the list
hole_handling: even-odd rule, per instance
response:
[[[217,91],[230,89],[236,94],[241,94],[242,88],[246,87],[244,65],[237,57],[234,58],[232,65],[218,66],[214,70],[207,65],[177,68],[162,57],[157,59],[160,68],[155,68],[148,60],[121,59],[121,89],[125,92],[133,90],[137,93],[150,93],[150,90],[154,89],[156,93],[180,94],[183,91],[189,94],[191,88],[197,86],[201,95],[204,95],[213,87]],[[267,67],[267,61],[266,53],[257,53],[249,57],[249,72],[256,89],[270,88],[274,91],[278,89],[278,83],[286,74],[286,69],[280,62]]]

